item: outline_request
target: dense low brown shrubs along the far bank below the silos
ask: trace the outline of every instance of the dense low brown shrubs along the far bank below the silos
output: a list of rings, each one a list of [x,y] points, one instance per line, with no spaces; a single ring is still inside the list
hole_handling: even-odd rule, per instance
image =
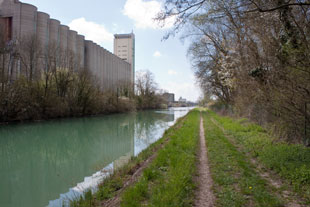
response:
[[[140,79],[145,78],[144,76]],[[119,113],[165,107],[156,88],[135,95],[133,86],[119,84],[104,92],[87,71],[58,69],[49,80],[25,76],[0,90],[0,122],[42,120]],[[145,87],[145,85],[140,86]],[[141,88],[141,90],[145,90]]]

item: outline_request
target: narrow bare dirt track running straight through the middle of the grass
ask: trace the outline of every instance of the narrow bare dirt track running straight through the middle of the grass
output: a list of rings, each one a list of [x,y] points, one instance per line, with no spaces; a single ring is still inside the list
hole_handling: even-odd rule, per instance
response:
[[[211,189],[213,181],[208,165],[207,148],[202,116],[200,117],[200,150],[198,173],[199,177],[197,178],[197,183],[199,184],[199,187],[196,194],[195,206],[212,207],[215,203],[215,197]]]

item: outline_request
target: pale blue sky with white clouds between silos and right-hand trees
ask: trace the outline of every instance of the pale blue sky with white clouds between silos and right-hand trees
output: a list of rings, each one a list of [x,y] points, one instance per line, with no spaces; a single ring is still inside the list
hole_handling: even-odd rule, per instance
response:
[[[161,28],[152,18],[162,6],[161,0],[21,0],[70,26],[86,39],[113,52],[113,34],[136,36],[136,71],[149,70],[159,88],[196,101],[200,95],[190,62],[187,43],[178,37],[162,41],[172,21]]]

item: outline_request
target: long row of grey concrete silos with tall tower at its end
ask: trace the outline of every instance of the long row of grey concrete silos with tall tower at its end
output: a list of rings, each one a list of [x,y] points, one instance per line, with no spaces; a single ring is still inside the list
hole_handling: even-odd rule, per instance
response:
[[[60,56],[57,67],[66,68],[68,66],[63,62],[73,61],[74,68],[91,71],[103,90],[115,89],[120,83],[134,84],[134,34],[130,34],[130,42],[126,44],[128,56],[123,58],[118,53],[114,55],[98,44],[85,40],[84,36],[70,30],[60,21],[51,19],[35,6],[18,0],[0,0],[0,30],[8,44],[22,46],[25,40],[35,38],[38,42],[37,49],[42,53],[42,61],[38,61],[36,70],[46,67],[44,57],[54,49]],[[115,38],[118,39],[119,36],[123,35],[115,35]],[[118,47],[120,42],[115,42]],[[66,57],[66,60],[62,61],[62,57]],[[9,64],[11,73],[17,77],[22,74],[23,64],[20,59],[16,58]]]

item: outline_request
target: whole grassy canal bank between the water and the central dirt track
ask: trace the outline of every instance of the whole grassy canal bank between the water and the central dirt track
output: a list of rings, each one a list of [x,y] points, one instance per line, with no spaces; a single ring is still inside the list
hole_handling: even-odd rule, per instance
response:
[[[193,204],[199,114],[193,110],[180,118],[161,139],[104,180],[96,193],[89,191],[70,206],[139,206],[146,200],[157,202],[155,206]]]

